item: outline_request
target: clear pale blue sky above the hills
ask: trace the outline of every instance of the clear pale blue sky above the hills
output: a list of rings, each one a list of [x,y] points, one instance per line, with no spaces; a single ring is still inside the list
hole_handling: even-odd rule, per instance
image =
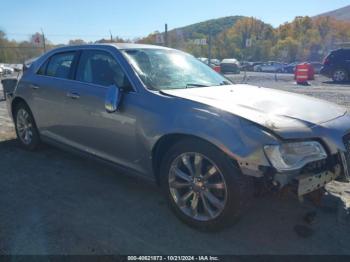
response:
[[[278,26],[295,16],[314,16],[350,0],[0,0],[0,30],[28,40],[42,29],[51,42],[136,38],[231,15],[253,16]]]

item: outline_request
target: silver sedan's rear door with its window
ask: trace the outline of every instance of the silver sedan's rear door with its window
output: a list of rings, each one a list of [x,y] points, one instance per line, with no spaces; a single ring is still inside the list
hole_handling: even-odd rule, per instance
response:
[[[56,53],[48,58],[31,79],[31,109],[42,134],[60,137],[64,130],[64,101],[72,85],[76,51]]]

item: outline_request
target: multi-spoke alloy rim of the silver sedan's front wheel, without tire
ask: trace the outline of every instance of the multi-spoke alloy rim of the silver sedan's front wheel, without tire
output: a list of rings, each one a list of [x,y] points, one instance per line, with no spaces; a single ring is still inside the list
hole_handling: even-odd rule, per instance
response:
[[[172,162],[169,172],[170,194],[184,214],[209,221],[222,213],[227,186],[212,160],[199,153],[183,153]]]

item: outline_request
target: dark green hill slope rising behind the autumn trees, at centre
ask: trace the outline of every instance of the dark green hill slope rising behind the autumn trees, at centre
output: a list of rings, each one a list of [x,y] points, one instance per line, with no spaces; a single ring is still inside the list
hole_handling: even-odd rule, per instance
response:
[[[209,32],[211,32],[212,35],[215,36],[231,28],[241,18],[243,18],[243,16],[227,16],[217,19],[211,19],[204,22],[188,25],[185,27],[176,28],[169,32],[181,32],[181,34],[186,39],[194,38],[195,35],[198,34],[208,35]]]

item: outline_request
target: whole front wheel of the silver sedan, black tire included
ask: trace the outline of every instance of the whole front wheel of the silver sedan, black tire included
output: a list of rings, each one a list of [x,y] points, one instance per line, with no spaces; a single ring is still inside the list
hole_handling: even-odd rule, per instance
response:
[[[180,141],[167,152],[161,185],[176,216],[205,231],[237,221],[253,195],[250,178],[221,150],[197,139]]]

